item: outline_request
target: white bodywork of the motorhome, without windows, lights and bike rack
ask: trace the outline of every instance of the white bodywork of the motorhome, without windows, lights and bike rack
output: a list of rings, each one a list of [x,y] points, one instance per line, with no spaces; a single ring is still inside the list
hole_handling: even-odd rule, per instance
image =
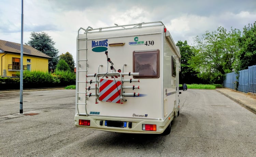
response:
[[[165,26],[161,25],[105,32],[88,31],[87,34],[78,35],[76,126],[127,133],[162,133],[165,130],[175,114],[179,111],[178,67],[180,67],[180,52],[176,49],[175,43],[169,36],[169,32],[164,32],[164,28]],[[166,35],[168,35],[169,39]],[[132,43],[136,40],[137,44]],[[153,45],[145,45],[146,41],[153,43]],[[94,42],[96,42],[96,44],[94,44]],[[98,47],[103,47],[104,51],[93,51],[93,48],[97,47],[97,42]],[[125,44],[122,46],[109,46],[109,44],[113,43]],[[133,92],[139,93],[139,96],[123,97],[126,99],[123,103],[106,102],[100,101],[99,99],[96,101],[97,97],[89,96],[89,93],[99,93],[99,90],[88,90],[89,86],[95,87],[95,84],[97,84],[89,83],[90,80],[95,81],[96,77],[86,77],[86,75],[106,73],[107,71],[109,73],[113,72],[110,70],[111,64],[107,61],[105,49],[107,49],[108,57],[114,64],[113,67],[116,70],[121,69],[121,73],[133,72],[133,51],[159,50],[159,77],[138,78],[140,82],[123,83],[123,86],[139,86],[139,89],[134,90],[122,89],[122,93],[125,94],[133,94]],[[172,76],[172,56],[176,59],[176,77]],[[126,66],[124,66],[124,64],[126,64]],[[100,78],[103,77],[98,77],[97,80],[100,80]],[[122,80],[130,80],[130,78],[132,78],[132,80],[138,80],[128,75],[122,77]],[[104,79],[117,81],[120,80],[120,76],[118,78],[104,77]],[[85,83],[85,81],[88,81],[88,83]],[[98,86],[99,85],[100,83],[98,83]],[[85,93],[87,93],[87,96]],[[90,120],[90,126],[79,125],[79,119]],[[105,120],[130,122],[132,123],[132,127],[104,126]],[[103,125],[100,125],[100,121],[103,121]],[[142,124],[156,124],[157,130],[144,131],[142,130]]]

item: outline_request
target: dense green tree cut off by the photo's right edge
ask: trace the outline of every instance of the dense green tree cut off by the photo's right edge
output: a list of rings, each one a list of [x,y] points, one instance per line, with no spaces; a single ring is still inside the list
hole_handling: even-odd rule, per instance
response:
[[[236,70],[247,69],[248,66],[256,65],[256,22],[244,26],[242,37],[239,38],[241,47],[238,53]]]

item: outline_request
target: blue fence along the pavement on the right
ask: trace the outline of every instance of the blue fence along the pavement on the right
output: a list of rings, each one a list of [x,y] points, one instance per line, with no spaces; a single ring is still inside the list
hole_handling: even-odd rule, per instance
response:
[[[248,69],[239,71],[239,78],[234,72],[225,74],[223,86],[235,89],[235,81],[239,82],[238,91],[256,93],[256,65],[248,67]]]

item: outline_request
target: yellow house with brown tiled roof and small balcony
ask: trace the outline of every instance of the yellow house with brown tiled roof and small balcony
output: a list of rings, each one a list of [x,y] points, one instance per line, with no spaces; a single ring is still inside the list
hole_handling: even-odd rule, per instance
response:
[[[0,40],[0,76],[16,76],[16,72],[23,70],[29,71],[48,71],[48,55],[37,49],[23,45],[23,67],[20,67],[20,44]]]

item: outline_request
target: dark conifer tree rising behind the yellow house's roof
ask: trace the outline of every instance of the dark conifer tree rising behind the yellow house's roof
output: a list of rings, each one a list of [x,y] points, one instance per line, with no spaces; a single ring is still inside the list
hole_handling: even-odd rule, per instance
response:
[[[55,42],[45,32],[41,32],[41,33],[31,32],[30,35],[31,35],[30,41],[28,41],[25,44],[31,47],[34,47],[38,51],[41,51],[42,53],[52,57],[52,59],[50,59],[48,63],[48,70],[49,72],[54,71],[58,63],[58,52],[59,52],[58,49],[54,47]]]

